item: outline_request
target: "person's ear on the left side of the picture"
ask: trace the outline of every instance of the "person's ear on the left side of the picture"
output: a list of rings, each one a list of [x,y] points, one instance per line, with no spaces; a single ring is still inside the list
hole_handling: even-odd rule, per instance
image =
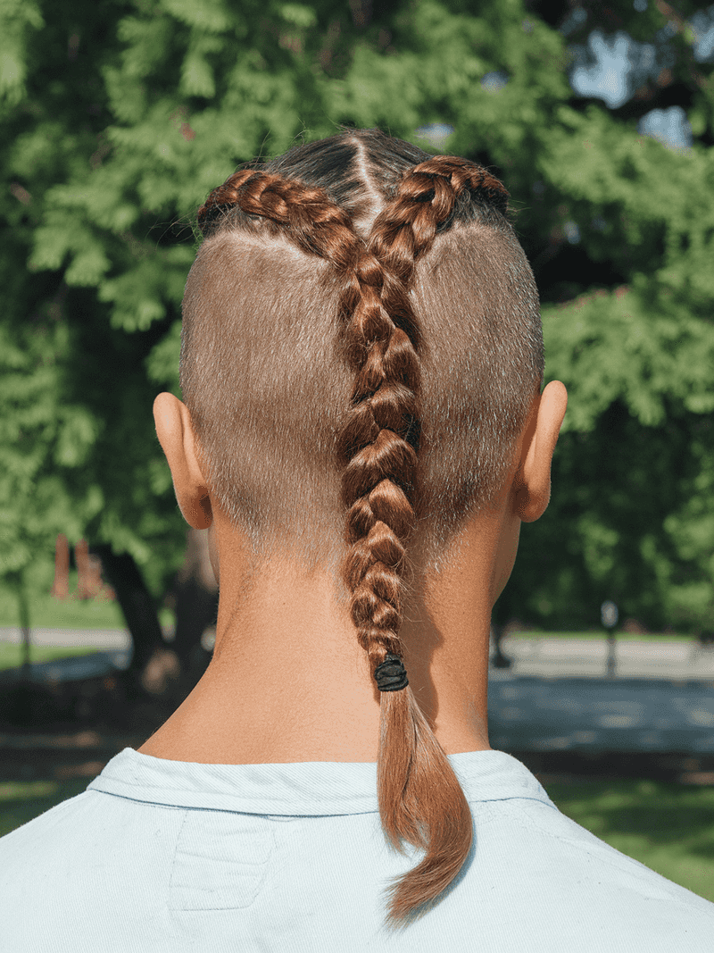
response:
[[[153,402],[153,418],[181,513],[193,529],[205,530],[213,522],[213,511],[188,407],[172,394],[160,394]]]

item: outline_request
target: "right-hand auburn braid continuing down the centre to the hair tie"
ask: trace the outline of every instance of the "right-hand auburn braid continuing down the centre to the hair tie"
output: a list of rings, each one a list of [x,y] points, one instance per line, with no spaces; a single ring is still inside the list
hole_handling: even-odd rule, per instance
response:
[[[416,519],[419,334],[408,292],[417,259],[466,191],[506,212],[503,185],[464,159],[440,156],[405,173],[374,221],[343,300],[357,371],[340,444],[351,544],[346,580],[373,673],[387,654],[402,656],[405,547]]]

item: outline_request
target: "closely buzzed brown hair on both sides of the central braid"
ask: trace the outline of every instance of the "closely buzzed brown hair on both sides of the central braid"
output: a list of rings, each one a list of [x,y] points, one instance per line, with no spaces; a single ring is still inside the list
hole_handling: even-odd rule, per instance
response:
[[[258,553],[280,543],[334,563],[344,552],[337,435],[353,375],[339,294],[327,262],[253,221],[209,235],[188,276],[184,398],[211,489]],[[424,340],[420,532],[437,558],[506,476],[543,376],[540,311],[503,216],[437,236],[412,297]]]

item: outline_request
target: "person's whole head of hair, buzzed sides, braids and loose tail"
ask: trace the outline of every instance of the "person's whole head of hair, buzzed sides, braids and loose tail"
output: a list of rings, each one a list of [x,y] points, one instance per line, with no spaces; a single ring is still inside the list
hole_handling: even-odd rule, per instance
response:
[[[210,193],[184,299],[181,385],[212,497],[256,565],[280,551],[339,567],[370,675],[387,673],[380,814],[395,847],[426,851],[389,888],[392,924],[428,909],[472,841],[388,657],[415,572],[437,572],[502,491],[542,382],[538,294],[506,213],[480,166],[343,132]]]

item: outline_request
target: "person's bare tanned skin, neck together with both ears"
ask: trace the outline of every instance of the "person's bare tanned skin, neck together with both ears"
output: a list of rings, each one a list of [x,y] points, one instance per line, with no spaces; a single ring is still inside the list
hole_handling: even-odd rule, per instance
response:
[[[409,684],[446,754],[489,749],[491,609],[513,568],[521,523],[545,512],[566,402],[559,381],[534,396],[501,497],[466,523],[442,572],[407,604]],[[205,764],[376,761],[380,693],[335,579],[276,555],[247,590],[246,542],[211,498],[188,409],[161,394],[154,418],[181,511],[191,526],[208,528],[221,594],[204,677],[139,751]]]

